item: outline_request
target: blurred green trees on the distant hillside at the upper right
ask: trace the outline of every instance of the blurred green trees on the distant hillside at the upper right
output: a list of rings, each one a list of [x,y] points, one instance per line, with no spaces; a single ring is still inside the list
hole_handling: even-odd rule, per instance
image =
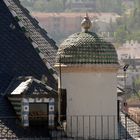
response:
[[[120,44],[126,40],[140,42],[140,0],[135,0],[135,7],[129,15],[124,14],[114,25],[115,41]]]

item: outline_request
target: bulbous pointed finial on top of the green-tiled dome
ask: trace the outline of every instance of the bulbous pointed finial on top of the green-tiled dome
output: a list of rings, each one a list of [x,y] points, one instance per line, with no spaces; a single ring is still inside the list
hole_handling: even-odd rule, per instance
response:
[[[81,27],[84,32],[87,32],[91,28],[91,21],[89,19],[88,13],[86,12],[86,16],[81,22]]]

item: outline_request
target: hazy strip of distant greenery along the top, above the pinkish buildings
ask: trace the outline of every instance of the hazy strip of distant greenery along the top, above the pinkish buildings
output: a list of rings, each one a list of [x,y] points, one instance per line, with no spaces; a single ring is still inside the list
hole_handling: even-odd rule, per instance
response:
[[[20,0],[31,11],[39,12],[123,12],[123,2],[131,0]]]

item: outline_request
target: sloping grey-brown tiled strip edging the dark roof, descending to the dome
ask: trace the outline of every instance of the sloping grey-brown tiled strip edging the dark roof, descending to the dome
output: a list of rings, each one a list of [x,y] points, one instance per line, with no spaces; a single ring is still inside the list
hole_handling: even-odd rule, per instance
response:
[[[47,32],[38,25],[37,20],[29,14],[19,0],[3,1],[50,73],[57,80],[57,72],[53,68],[57,52],[55,42],[47,36]]]

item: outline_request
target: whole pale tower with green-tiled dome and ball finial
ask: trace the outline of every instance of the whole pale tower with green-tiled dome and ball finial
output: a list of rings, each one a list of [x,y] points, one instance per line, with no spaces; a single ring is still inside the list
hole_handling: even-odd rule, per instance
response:
[[[67,134],[117,139],[116,50],[88,31],[87,15],[81,25],[82,32],[60,45],[55,65],[61,63],[62,88],[67,91]]]

